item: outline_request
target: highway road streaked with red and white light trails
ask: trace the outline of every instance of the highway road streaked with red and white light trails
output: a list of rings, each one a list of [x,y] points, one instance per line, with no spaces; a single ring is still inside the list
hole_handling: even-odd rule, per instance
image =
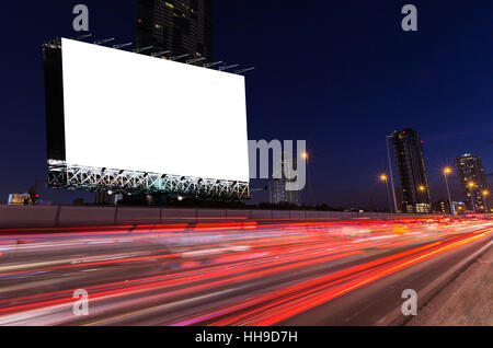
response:
[[[393,325],[403,290],[429,297],[492,232],[479,218],[0,230],[0,325]]]

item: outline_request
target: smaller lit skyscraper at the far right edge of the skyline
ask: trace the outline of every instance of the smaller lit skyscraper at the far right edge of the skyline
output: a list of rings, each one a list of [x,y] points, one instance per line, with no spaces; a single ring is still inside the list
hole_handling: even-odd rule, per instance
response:
[[[491,209],[490,193],[481,159],[467,153],[458,158],[456,163],[468,209],[473,212],[485,212]]]

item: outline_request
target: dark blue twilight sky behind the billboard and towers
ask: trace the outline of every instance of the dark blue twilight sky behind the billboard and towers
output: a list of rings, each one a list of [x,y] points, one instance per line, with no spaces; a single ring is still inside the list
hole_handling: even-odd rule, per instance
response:
[[[136,2],[2,2],[0,202],[35,179],[47,200],[93,199],[43,185],[42,44],[76,35],[77,3],[89,7],[96,38],[134,40]],[[408,127],[424,141],[434,200],[445,197],[440,169],[462,153],[479,154],[493,172],[491,0],[215,3],[217,60],[256,68],[246,79],[250,139],[307,140],[317,202],[365,207],[372,199],[387,207],[378,182],[387,169],[385,137]],[[405,3],[417,7],[417,33],[400,26]],[[457,177],[452,186],[459,200]]]

